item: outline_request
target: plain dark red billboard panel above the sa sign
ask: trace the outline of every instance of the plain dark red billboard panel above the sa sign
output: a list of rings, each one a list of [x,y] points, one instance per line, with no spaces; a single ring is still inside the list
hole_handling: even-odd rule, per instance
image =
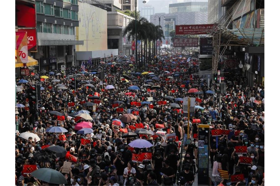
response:
[[[16,25],[23,28],[36,27],[35,4],[16,3]]]

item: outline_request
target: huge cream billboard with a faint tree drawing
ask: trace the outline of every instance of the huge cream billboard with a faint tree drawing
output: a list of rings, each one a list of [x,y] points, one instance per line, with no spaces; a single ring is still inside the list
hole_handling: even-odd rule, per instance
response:
[[[78,1],[79,26],[76,33],[83,45],[76,45],[76,51],[107,50],[107,11],[88,3]]]

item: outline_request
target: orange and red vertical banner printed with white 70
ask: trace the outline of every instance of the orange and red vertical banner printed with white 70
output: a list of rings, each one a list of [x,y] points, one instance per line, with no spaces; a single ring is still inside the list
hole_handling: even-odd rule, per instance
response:
[[[17,41],[17,62],[28,62],[28,50],[27,50],[27,32],[16,32]]]

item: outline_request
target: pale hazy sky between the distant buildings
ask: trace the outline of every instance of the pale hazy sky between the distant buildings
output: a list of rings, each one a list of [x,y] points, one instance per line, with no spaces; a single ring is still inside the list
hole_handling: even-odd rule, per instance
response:
[[[141,10],[143,0],[138,0],[138,10]],[[169,13],[169,4],[172,3],[183,3],[187,0],[146,0],[146,5],[155,7],[155,13]]]

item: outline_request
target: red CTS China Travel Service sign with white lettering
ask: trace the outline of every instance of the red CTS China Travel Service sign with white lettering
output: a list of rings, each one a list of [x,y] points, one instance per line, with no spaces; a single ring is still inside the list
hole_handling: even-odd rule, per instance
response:
[[[204,25],[176,25],[176,35],[201,35],[208,34],[208,31],[213,28],[214,24],[204,24]]]

